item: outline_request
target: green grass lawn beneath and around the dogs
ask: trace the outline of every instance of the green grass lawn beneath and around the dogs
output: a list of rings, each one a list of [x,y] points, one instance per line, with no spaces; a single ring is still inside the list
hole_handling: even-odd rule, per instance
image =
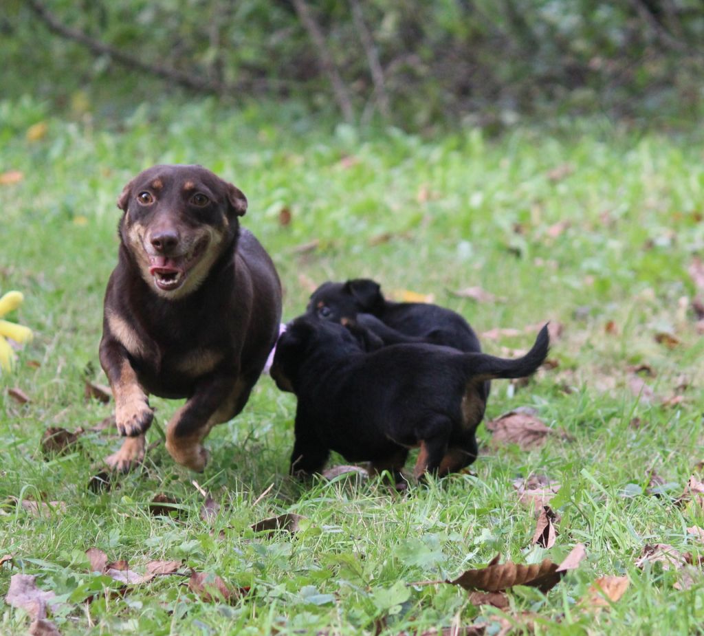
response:
[[[331,131],[286,113],[272,123],[208,102],[137,108],[120,123],[70,122],[28,99],[1,103],[0,122],[0,173],[24,175],[0,186],[0,292],[25,293],[12,318],[35,332],[15,372],[0,379],[32,398],[20,406],[0,392],[0,556],[15,556],[13,568],[0,569],[0,592],[12,573],[37,575],[42,589],[70,601],[53,618],[64,635],[390,636],[453,621],[484,621],[495,634],[501,611],[474,607],[450,585],[408,584],[452,577],[497,553],[520,563],[559,561],[582,542],[587,559],[574,573],[547,595],[518,588],[503,615],[536,613],[540,634],[702,630],[699,571],[689,589],[677,590],[674,570],[634,565],[646,543],[704,551],[686,532],[704,525],[703,510],[672,503],[703,459],[704,346],[681,300],[696,292],[687,266],[704,248],[700,133],[636,135],[581,120],[561,131],[520,127],[500,139],[479,130],[422,139]],[[30,141],[27,130],[41,122],[46,135]],[[162,446],[110,492],[88,490],[101,458],[119,443],[111,431],[88,432],[77,451],[49,461],[39,439],[49,426],[87,428],[111,413],[110,405],[84,401],[82,375],[89,364],[99,368],[115,198],[131,175],[158,162],[202,163],[243,189],[250,201],[243,222],[279,269],[286,319],[303,310],[311,282],[370,276],[389,293],[433,293],[479,332],[562,323],[551,351],[558,368],[515,390],[496,382],[488,417],[534,406],[571,439],[555,437],[533,451],[495,448],[482,427],[476,474],[431,481],[407,497],[377,480],[303,487],[287,477],[295,401],[262,378],[245,411],[208,437],[202,475],[175,466]],[[282,208],[291,212],[286,226]],[[296,250],[313,239],[315,251]],[[448,293],[474,285],[497,300],[477,304]],[[679,344],[655,342],[658,332]],[[484,342],[502,354],[530,339]],[[650,401],[629,389],[629,368],[641,364],[655,373],[645,378],[655,392]],[[684,401],[663,406],[683,384]],[[177,406],[153,404],[151,442]],[[665,497],[646,494],[653,467]],[[532,474],[562,486],[560,534],[549,550],[529,545],[535,514],[512,487]],[[199,516],[194,478],[222,504],[214,522]],[[180,502],[180,519],[149,513],[159,493]],[[36,516],[9,497],[63,504]],[[251,530],[284,512],[304,518],[295,535]],[[103,594],[118,586],[88,573],[89,547],[137,570],[151,559],[184,559],[251,591],[232,606],[213,604],[191,594],[185,578],[165,577],[124,596]],[[610,574],[629,578],[624,597],[603,611],[579,605],[593,580]],[[1,632],[26,628],[23,611],[1,609]]]

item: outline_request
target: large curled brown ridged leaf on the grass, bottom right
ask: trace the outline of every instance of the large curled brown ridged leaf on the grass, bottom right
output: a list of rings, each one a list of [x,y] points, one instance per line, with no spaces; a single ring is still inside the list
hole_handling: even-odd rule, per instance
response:
[[[548,592],[558,584],[563,573],[574,570],[584,559],[585,552],[582,544],[577,544],[558,565],[550,559],[543,559],[541,563],[522,565],[517,563],[499,563],[499,556],[495,556],[486,568],[467,570],[458,578],[446,582],[460,585],[465,590],[480,590],[482,592],[501,592],[515,585],[528,585],[537,587],[541,592]]]

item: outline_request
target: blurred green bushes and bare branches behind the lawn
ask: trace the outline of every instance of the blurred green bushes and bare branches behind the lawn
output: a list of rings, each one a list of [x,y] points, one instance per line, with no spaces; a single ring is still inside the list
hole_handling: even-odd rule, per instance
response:
[[[68,115],[215,95],[404,130],[702,112],[702,0],[4,0],[4,96]]]

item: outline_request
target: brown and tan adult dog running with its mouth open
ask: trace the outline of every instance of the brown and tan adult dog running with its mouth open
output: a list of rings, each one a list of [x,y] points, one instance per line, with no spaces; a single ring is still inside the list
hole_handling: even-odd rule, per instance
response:
[[[241,411],[276,342],[281,284],[263,247],[239,227],[246,197],[210,170],[144,170],[118,207],[100,362],[127,439],[107,461],[117,470],[142,461],[154,394],[187,398],[168,425],[166,448],[203,470],[203,438]]]

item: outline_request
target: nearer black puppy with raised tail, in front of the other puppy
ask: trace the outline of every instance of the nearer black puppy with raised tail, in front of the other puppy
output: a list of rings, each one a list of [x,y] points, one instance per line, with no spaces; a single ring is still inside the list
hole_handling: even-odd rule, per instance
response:
[[[522,358],[505,360],[432,344],[396,344],[368,353],[343,325],[301,316],[279,339],[271,370],[298,397],[291,473],[315,473],[332,449],[398,474],[420,447],[416,477],[446,475],[477,457],[484,417],[477,387],[533,373],[548,353],[543,327]]]

